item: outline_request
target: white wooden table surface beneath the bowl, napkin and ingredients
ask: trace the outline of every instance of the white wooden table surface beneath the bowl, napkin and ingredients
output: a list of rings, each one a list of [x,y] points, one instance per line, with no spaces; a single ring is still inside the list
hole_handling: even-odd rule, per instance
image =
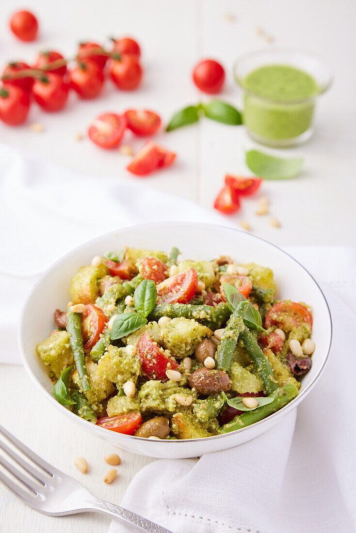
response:
[[[28,9],[40,20],[41,39],[21,44],[9,34],[7,19],[18,9],[17,2],[0,3],[0,63],[23,59],[32,62],[36,51],[58,49],[72,55],[78,41],[104,42],[110,36],[132,35],[143,48],[145,77],[133,93],[114,90],[108,82],[101,98],[77,101],[72,95],[65,111],[45,115],[35,106],[29,122],[41,122],[45,131],[34,133],[27,126],[8,128],[0,124],[0,142],[7,142],[33,155],[66,165],[85,174],[137,178],[125,171],[128,159],[118,151],[101,151],[84,138],[91,120],[105,111],[121,112],[130,107],[158,111],[168,120],[175,110],[201,99],[191,82],[194,63],[202,57],[220,59],[227,71],[224,98],[240,104],[234,84],[232,64],[241,54],[266,46],[293,46],[322,55],[335,73],[333,88],[320,99],[316,132],[305,146],[285,150],[282,155],[305,157],[305,170],[298,181],[265,183],[271,211],[280,220],[272,228],[266,217],[257,217],[254,200],[246,200],[236,223],[243,218],[252,231],[278,245],[355,244],[354,232],[354,151],[356,134],[356,78],[354,70],[355,20],[352,0],[62,0],[54,5],[45,0],[29,0]],[[268,44],[256,34],[261,27],[274,39]],[[230,127],[203,120],[199,125],[170,134],[160,133],[157,141],[176,151],[177,161],[167,172],[145,181],[152,187],[189,198],[210,207],[223,183],[224,174],[247,172],[244,149],[254,146],[242,127]],[[126,141],[125,141],[126,142]],[[139,141],[127,142],[138,148]],[[21,367],[0,368],[1,423],[41,454],[75,478],[83,481],[94,495],[120,502],[132,476],[149,459],[122,453],[120,478],[111,486],[102,482],[108,465],[104,456],[113,451],[74,426],[45,402]],[[85,476],[73,460],[84,456],[90,464]],[[106,531],[109,519],[100,515],[48,518],[22,505],[0,486],[0,530],[89,532]]]

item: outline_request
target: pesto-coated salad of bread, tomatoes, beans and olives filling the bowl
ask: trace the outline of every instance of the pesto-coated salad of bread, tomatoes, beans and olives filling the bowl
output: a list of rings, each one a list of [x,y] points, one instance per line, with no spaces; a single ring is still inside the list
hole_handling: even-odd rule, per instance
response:
[[[126,248],[78,270],[37,345],[59,403],[118,433],[198,439],[296,398],[315,348],[307,305],[276,300],[264,266],[179,254]]]

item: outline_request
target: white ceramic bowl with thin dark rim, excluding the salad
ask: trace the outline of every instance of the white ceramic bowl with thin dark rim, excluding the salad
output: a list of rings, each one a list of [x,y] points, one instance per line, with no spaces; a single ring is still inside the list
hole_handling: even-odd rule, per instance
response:
[[[286,407],[264,420],[240,430],[206,439],[155,441],[122,435],[84,421],[61,406],[53,397],[53,385],[36,354],[36,344],[53,330],[54,309],[65,309],[68,302],[69,280],[77,269],[90,263],[95,255],[124,246],[162,249],[169,252],[177,246],[184,259],[213,259],[231,255],[241,263],[256,262],[270,266],[274,272],[280,298],[305,301],[313,308],[315,352],[311,370],[303,376],[298,397]],[[107,233],[69,252],[55,263],[33,288],[22,310],[19,325],[19,345],[23,365],[44,393],[74,423],[73,431],[82,427],[110,444],[135,454],[162,458],[197,457],[211,451],[225,450],[254,439],[271,429],[283,416],[306,397],[325,368],[331,344],[331,317],[328,304],[317,282],[287,253],[249,233],[217,225],[199,223],[154,223],[138,225]]]

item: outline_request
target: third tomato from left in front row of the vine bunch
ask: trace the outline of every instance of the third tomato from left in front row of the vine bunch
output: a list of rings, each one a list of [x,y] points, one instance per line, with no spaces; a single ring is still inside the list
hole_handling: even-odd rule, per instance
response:
[[[80,61],[70,71],[70,86],[83,99],[96,98],[104,85],[104,74],[98,64],[90,59]]]

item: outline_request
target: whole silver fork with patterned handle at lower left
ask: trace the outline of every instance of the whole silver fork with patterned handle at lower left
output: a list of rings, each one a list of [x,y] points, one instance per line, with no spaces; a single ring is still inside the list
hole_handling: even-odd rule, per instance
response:
[[[41,457],[38,457],[2,426],[0,426],[0,435],[6,437],[23,454],[18,454],[17,451],[14,451],[0,439],[0,449],[13,459],[16,466],[9,463],[2,454],[0,454],[0,464],[19,483],[10,479],[2,470],[0,470],[0,480],[23,502],[26,502],[40,513],[50,516],[64,516],[93,511],[110,514],[126,524],[131,524],[131,526],[140,531],[171,533],[168,529],[146,520],[143,516],[95,498],[80,482],[43,461]],[[30,464],[27,459],[30,459],[36,467]],[[26,474],[18,468],[19,465],[26,471]],[[30,492],[23,489],[23,485]]]

